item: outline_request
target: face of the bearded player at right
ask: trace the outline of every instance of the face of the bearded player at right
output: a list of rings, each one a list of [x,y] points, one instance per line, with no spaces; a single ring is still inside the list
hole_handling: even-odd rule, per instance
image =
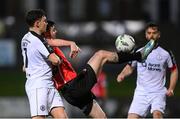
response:
[[[150,40],[158,40],[160,38],[160,32],[158,31],[158,29],[156,27],[149,27],[146,30],[146,39]]]

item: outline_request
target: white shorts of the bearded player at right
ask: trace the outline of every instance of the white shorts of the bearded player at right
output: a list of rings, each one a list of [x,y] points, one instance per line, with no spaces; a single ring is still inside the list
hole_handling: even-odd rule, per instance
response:
[[[141,117],[145,117],[148,114],[149,109],[151,109],[151,113],[153,113],[155,110],[164,113],[165,106],[165,94],[150,93],[147,95],[142,95],[142,93],[140,94],[135,92],[128,113],[135,113]]]

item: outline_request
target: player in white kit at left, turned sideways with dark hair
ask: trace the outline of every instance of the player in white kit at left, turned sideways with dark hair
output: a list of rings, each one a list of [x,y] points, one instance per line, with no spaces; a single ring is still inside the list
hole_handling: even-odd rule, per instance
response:
[[[38,9],[29,11],[26,22],[29,32],[22,38],[21,49],[31,117],[43,119],[50,114],[54,118],[66,118],[62,99],[52,81],[51,67],[58,65],[60,59],[53,53],[51,47],[45,47],[41,36],[47,26],[44,11]]]

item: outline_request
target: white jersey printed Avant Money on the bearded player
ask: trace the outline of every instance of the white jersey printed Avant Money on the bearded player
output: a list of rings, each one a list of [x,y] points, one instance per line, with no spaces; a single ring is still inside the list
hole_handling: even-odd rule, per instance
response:
[[[175,65],[171,52],[158,46],[148,55],[144,63],[133,61],[131,66],[137,66],[136,91],[145,93],[164,93],[166,91],[166,69]]]

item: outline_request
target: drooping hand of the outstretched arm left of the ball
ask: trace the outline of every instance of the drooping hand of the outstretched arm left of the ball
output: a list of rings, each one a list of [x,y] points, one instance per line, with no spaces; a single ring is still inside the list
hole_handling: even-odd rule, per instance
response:
[[[71,48],[71,52],[69,54],[70,58],[75,58],[78,55],[78,53],[81,51],[81,49],[76,45],[75,42],[71,43],[70,48]]]

